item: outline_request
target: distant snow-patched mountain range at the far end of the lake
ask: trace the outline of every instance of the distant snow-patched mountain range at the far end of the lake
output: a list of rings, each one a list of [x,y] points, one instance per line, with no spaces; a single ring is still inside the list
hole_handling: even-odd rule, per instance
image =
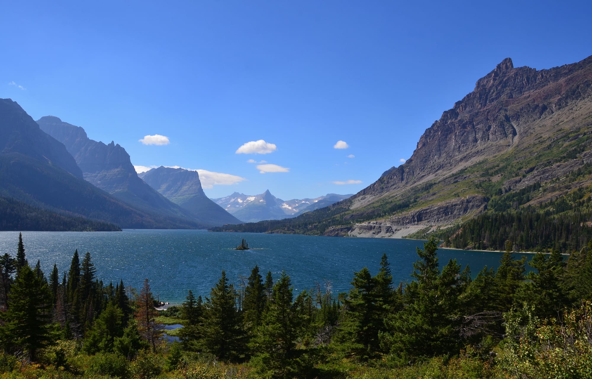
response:
[[[327,194],[314,199],[281,200],[269,192],[269,189],[260,195],[245,195],[234,192],[233,194],[213,199],[220,207],[229,211],[238,219],[245,222],[257,222],[261,220],[281,220],[296,217],[337,201],[346,199],[352,195]]]

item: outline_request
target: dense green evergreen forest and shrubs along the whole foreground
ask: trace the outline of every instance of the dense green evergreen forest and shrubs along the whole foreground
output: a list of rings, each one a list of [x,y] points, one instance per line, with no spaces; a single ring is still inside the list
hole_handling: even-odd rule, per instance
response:
[[[440,266],[437,242],[417,249],[406,285],[387,255],[294,293],[283,272],[222,271],[208,296],[188,292],[157,311],[140,290],[96,279],[76,251],[60,280],[30,265],[19,237],[0,256],[0,378],[588,378],[592,372],[592,243],[529,265],[506,242],[497,270]],[[265,276],[265,279],[263,278]],[[163,324],[179,342],[166,342]]]

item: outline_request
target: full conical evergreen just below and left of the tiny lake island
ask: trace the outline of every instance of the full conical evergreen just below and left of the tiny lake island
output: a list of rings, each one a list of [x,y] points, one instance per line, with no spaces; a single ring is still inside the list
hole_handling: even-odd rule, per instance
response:
[[[206,298],[202,338],[205,349],[220,359],[236,361],[242,355],[244,333],[225,271]]]

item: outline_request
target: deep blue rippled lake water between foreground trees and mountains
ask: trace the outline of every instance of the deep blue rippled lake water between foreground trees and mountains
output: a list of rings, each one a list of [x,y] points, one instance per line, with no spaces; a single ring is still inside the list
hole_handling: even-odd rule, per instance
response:
[[[244,238],[252,248],[233,250]],[[332,283],[334,292],[349,290],[353,272],[368,267],[372,275],[387,253],[393,282],[410,281],[416,247],[423,241],[355,237],[268,235],[259,233],[214,233],[205,230],[124,230],[123,232],[22,232],[25,253],[31,266],[41,260],[48,275],[57,264],[68,271],[75,249],[82,257],[90,252],[99,279],[115,285],[140,288],[150,280],[156,298],[182,303],[187,291],[209,296],[222,270],[230,282],[248,277],[259,265],[261,275],[282,270],[291,277],[295,292],[313,288],[315,281]],[[16,255],[18,232],[0,232],[0,255]],[[497,268],[502,253],[439,249],[440,266],[456,258],[476,275],[483,266]],[[519,255],[517,255],[519,256]]]

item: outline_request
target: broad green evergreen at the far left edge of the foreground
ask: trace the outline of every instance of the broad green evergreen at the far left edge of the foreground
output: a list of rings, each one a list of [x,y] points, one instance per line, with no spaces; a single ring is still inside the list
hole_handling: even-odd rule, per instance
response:
[[[20,348],[30,361],[37,361],[37,353],[53,341],[50,310],[47,283],[25,264],[12,284],[8,311],[2,314],[2,345],[8,351]]]

